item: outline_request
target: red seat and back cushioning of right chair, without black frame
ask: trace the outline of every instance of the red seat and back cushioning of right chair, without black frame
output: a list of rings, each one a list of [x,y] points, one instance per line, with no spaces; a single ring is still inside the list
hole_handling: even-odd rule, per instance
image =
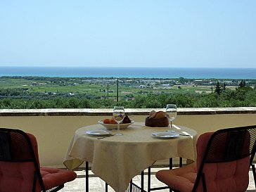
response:
[[[207,143],[213,133],[205,133],[199,136],[197,141],[197,162],[186,167],[171,170],[161,170],[156,177],[171,188],[181,192],[191,192],[197,176],[197,167],[202,162]],[[248,135],[249,136],[249,135]],[[248,137],[249,139],[250,137]],[[223,139],[225,141],[225,139]],[[250,142],[249,142],[250,143]],[[223,144],[224,145],[224,144]],[[215,153],[220,154],[223,146],[220,144]],[[217,156],[217,155],[215,155]],[[217,157],[218,158],[218,157]],[[206,163],[203,172],[208,192],[241,192],[246,191],[249,184],[250,157],[231,162]],[[198,192],[203,191],[200,180]]]

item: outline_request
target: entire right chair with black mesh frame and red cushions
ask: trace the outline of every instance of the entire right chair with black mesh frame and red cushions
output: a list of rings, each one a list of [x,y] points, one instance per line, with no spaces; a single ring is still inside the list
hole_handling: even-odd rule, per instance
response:
[[[255,179],[255,139],[256,125],[202,134],[196,144],[196,162],[160,170],[155,176],[173,191],[246,191],[250,166]]]

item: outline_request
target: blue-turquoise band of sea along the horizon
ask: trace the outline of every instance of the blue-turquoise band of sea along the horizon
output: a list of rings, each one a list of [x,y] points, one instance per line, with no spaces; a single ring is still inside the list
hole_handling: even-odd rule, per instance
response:
[[[0,67],[2,76],[256,79],[256,68]]]

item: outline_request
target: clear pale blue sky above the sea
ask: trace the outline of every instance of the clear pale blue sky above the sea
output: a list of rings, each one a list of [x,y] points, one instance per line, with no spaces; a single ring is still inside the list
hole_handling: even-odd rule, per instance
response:
[[[256,1],[1,0],[0,66],[256,68]]]

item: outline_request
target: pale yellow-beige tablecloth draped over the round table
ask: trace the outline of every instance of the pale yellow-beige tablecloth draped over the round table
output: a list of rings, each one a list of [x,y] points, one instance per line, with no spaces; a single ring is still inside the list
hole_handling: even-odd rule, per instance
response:
[[[99,136],[86,134],[86,131],[99,129],[106,130],[101,124],[77,129],[63,163],[68,169],[75,169],[84,161],[91,162],[91,171],[117,192],[124,192],[134,176],[157,160],[196,158],[197,132],[187,127],[173,125],[175,131],[191,136],[172,139],[151,135],[166,131],[168,127],[146,127],[143,122],[134,122],[121,130],[122,136],[98,139]]]

